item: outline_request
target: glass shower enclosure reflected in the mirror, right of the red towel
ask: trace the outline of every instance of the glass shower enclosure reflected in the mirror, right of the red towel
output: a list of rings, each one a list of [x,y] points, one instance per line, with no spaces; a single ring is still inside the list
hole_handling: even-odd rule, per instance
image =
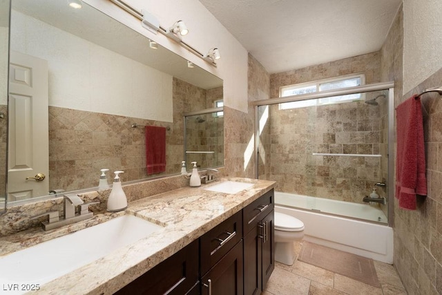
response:
[[[218,167],[224,163],[224,116],[222,108],[184,114],[184,161],[198,168]]]

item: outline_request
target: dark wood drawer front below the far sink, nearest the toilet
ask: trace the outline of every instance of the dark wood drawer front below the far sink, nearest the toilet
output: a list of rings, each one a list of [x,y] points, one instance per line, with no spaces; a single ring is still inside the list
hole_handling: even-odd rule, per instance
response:
[[[267,216],[267,214],[273,210],[273,207],[275,207],[274,196],[275,193],[273,189],[271,189],[258,200],[253,201],[247,207],[242,209],[242,230],[244,231],[244,236],[247,235],[251,229],[256,227],[262,218]]]

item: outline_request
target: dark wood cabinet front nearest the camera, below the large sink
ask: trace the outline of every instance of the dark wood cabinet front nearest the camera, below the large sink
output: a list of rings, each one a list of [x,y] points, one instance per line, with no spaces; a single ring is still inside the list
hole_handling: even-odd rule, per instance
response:
[[[195,240],[115,294],[186,294],[198,282],[198,252]]]

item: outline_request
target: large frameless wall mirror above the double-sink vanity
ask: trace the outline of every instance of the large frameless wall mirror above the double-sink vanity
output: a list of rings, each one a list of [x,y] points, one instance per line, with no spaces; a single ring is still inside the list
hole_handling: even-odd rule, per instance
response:
[[[189,68],[186,59],[82,4],[74,9],[67,1],[12,0],[8,204],[95,188],[100,169],[110,170],[108,182],[116,170],[124,171],[123,182],[180,173],[183,114],[222,99],[221,79]],[[37,77],[47,79],[32,81]],[[40,83],[43,95],[34,87]],[[23,91],[29,85],[36,93]],[[48,99],[37,103],[45,89]],[[166,128],[162,173],[146,173],[147,125]],[[30,134],[41,135],[32,142]],[[28,169],[20,153],[42,168]],[[39,181],[38,173],[46,178]]]

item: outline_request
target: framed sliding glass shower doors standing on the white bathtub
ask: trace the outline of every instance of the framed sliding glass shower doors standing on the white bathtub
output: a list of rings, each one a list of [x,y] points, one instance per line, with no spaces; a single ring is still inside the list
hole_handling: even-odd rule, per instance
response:
[[[364,220],[370,219],[365,211],[376,209],[371,221],[387,223],[394,198],[393,86],[256,102],[256,177],[276,181],[276,203]],[[376,202],[364,202],[374,190]]]

